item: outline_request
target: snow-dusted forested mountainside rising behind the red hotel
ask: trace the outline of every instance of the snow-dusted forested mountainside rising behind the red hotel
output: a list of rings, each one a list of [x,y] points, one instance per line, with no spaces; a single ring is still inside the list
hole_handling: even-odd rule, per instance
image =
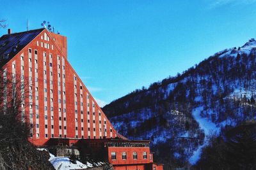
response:
[[[256,41],[134,90],[103,110],[119,133],[151,139],[165,169],[194,164],[212,134],[256,118]],[[173,163],[175,162],[175,163]]]

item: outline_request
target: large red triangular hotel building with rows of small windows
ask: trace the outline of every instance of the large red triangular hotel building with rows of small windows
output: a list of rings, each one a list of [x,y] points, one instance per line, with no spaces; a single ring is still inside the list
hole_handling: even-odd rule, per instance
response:
[[[95,151],[102,145],[114,169],[163,169],[153,162],[150,141],[131,141],[116,132],[68,62],[65,36],[8,29],[0,38],[0,63],[4,78],[20,81],[20,90],[28,91],[21,97],[21,117],[31,125],[34,145],[86,143]]]

